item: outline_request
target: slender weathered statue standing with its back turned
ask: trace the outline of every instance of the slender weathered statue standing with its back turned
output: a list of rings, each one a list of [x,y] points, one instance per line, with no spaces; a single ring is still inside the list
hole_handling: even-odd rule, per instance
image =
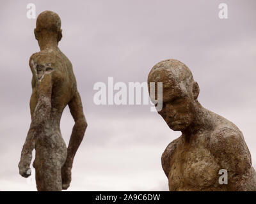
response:
[[[70,186],[74,156],[87,127],[72,64],[58,48],[61,36],[60,17],[52,11],[40,13],[35,28],[40,52],[29,59],[33,74],[31,125],[19,162],[20,175],[29,177],[35,148],[38,191],[61,191]],[[61,114],[67,105],[75,121],[68,148],[60,132]]]

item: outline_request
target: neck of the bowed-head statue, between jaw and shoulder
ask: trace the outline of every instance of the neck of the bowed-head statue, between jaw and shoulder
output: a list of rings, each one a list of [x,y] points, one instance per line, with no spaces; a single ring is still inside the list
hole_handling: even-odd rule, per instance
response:
[[[209,110],[205,109],[198,101],[196,101],[195,112],[193,113],[195,117],[193,118],[193,122],[189,125],[188,128],[184,129],[182,135],[185,136],[186,139],[190,139],[192,135],[196,135],[199,131],[204,131],[206,129],[211,129],[211,113]]]

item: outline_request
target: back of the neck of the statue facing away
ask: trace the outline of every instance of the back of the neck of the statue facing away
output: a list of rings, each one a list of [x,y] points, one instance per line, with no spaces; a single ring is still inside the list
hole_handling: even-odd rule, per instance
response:
[[[58,48],[57,36],[55,33],[42,33],[38,38],[38,44],[41,51],[52,47]]]

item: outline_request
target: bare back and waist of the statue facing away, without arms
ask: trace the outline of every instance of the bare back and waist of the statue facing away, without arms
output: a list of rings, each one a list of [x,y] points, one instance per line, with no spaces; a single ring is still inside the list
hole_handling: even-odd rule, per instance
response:
[[[38,85],[40,85],[35,64],[48,64],[47,66],[51,66],[52,94],[51,117],[36,140],[36,159],[33,166],[36,168],[41,164],[41,161],[52,161],[62,166],[67,157],[67,146],[61,136],[60,119],[65,106],[67,106],[76,92],[76,78],[74,77],[71,62],[58,48],[47,49],[33,54],[29,63],[33,73],[33,92],[30,99],[31,117],[38,103]]]

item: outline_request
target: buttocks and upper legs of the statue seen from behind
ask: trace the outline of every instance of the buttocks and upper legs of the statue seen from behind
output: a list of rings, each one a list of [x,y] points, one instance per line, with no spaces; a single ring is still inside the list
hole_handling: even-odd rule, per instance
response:
[[[45,131],[36,142],[36,187],[38,191],[61,191],[61,167],[67,158],[67,147],[60,132]]]

